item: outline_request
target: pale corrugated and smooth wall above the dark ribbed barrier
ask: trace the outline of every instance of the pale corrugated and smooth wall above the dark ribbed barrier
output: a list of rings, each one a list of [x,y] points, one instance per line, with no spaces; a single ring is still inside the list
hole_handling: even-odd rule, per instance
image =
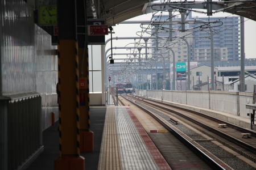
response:
[[[51,45],[51,36],[34,24],[32,9],[24,1],[0,0],[0,6],[2,94],[39,92],[42,128],[46,129],[50,113],[57,113],[57,56],[51,52],[56,46]]]

